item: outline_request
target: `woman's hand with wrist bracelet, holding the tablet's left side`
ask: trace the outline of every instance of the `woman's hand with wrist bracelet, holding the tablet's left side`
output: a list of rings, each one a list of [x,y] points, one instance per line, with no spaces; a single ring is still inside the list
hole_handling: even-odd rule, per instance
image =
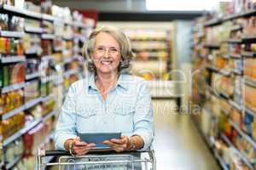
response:
[[[72,153],[77,156],[83,156],[87,154],[91,148],[96,146],[96,144],[93,144],[93,143],[87,144],[86,142],[81,141],[79,137],[75,139],[68,139],[65,143],[67,143],[68,150],[69,150],[69,147],[71,147]]]

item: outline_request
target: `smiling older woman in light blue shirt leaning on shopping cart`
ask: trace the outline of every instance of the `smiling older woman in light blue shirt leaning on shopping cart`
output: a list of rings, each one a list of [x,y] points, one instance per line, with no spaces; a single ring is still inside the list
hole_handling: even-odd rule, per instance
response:
[[[55,127],[55,148],[84,155],[95,144],[83,133],[121,132],[121,139],[104,141],[113,150],[147,150],[154,139],[154,122],[147,83],[128,73],[131,43],[122,31],[102,27],[90,34],[83,54],[90,72],[68,90]]]

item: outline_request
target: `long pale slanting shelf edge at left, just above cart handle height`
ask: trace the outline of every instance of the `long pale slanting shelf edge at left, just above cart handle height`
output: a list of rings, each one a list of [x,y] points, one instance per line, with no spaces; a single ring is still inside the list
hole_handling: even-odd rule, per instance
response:
[[[27,122],[26,126],[21,128],[18,132],[14,133],[8,139],[3,140],[3,147],[6,147],[11,142],[15,141],[15,139],[20,138],[24,133],[28,132],[32,127],[35,127],[41,122],[41,119],[35,119],[32,122]]]

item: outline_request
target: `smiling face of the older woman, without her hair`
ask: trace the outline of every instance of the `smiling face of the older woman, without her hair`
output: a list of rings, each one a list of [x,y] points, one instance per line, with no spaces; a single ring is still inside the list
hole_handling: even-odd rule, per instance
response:
[[[119,42],[117,42],[112,35],[106,32],[100,32],[96,35],[93,53],[96,72],[117,74],[120,59],[121,54]]]

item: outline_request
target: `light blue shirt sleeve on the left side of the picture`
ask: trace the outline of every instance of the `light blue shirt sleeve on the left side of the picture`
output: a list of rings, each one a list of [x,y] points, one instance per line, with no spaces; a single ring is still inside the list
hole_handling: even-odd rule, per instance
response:
[[[67,139],[74,139],[76,134],[75,90],[73,86],[68,89],[66,99],[61,107],[61,114],[55,127],[55,149],[65,150]]]

